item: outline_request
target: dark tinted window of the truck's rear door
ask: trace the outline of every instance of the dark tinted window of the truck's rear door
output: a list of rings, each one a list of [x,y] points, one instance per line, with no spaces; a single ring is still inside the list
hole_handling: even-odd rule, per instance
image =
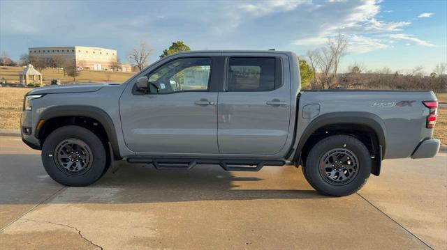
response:
[[[235,57],[228,63],[228,91],[274,90],[275,58]]]

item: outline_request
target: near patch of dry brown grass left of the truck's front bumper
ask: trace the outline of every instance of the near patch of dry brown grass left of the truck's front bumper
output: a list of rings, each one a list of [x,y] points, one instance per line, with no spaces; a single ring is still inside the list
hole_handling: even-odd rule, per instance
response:
[[[20,130],[23,97],[32,88],[0,88],[0,129]]]

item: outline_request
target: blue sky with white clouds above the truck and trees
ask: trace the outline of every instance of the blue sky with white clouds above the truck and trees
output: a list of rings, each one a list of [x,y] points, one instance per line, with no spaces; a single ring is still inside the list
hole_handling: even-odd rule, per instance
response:
[[[150,61],[175,40],[191,49],[290,50],[304,56],[343,33],[342,70],[362,63],[430,73],[447,63],[447,1],[8,1],[0,0],[0,52],[27,47],[117,49],[121,61],[140,41]]]

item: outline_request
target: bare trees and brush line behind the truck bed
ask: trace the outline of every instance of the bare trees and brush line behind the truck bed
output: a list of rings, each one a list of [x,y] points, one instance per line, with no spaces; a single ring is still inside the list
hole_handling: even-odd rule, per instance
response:
[[[340,73],[340,61],[346,55],[348,45],[349,40],[339,34],[329,38],[324,47],[307,51],[300,59],[302,88],[447,91],[446,63],[439,63],[428,76],[423,74],[422,67],[402,74],[389,68],[367,70],[362,63],[353,63],[347,72]]]

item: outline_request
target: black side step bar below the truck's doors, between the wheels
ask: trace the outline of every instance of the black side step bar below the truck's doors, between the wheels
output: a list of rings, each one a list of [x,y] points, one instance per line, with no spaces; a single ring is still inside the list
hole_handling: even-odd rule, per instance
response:
[[[155,158],[130,157],[129,163],[152,164],[158,170],[189,170],[198,164],[218,164],[226,171],[260,171],[263,166],[284,166],[283,160],[274,159],[187,159],[187,158]]]

